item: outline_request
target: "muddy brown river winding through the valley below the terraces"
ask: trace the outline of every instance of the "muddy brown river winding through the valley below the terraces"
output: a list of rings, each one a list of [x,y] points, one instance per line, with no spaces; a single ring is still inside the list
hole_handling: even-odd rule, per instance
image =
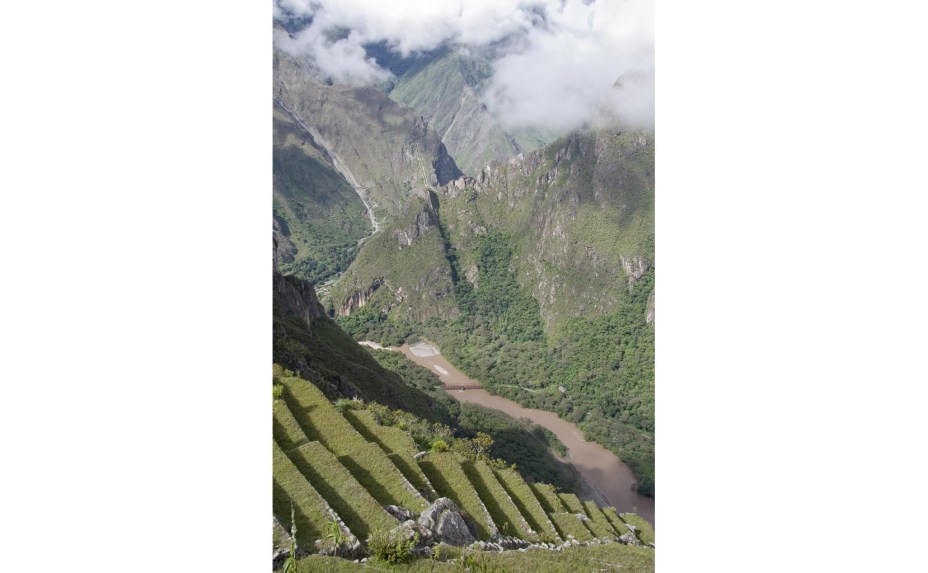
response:
[[[461,402],[480,404],[515,418],[528,418],[554,432],[567,446],[570,463],[579,470],[590,486],[591,491],[586,496],[580,496],[581,498],[586,497],[600,504],[612,505],[619,512],[637,513],[654,524],[654,500],[635,493],[635,476],[632,471],[606,448],[584,440],[583,432],[577,426],[558,418],[553,412],[525,408],[512,400],[493,396],[484,390],[479,382],[468,378],[452,366],[439,350],[428,342],[417,342],[412,346],[404,344],[399,350],[413,362],[438,374],[445,385],[445,391]]]

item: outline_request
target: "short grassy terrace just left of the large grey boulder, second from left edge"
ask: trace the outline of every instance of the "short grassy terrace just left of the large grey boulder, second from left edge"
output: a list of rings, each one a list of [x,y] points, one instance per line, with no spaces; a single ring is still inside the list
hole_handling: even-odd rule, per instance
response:
[[[367,539],[371,531],[396,525],[396,519],[319,442],[291,450],[289,456],[359,539]]]

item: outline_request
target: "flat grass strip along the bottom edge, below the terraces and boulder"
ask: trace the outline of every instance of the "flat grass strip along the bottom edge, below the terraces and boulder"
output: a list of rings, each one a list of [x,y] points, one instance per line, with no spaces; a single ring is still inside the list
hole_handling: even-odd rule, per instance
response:
[[[625,573],[645,573],[654,571],[654,551],[641,547],[632,547],[621,543],[594,545],[590,547],[570,547],[563,551],[544,551],[541,549],[526,552],[507,551],[504,553],[482,552],[471,554],[476,559],[477,571],[495,571],[498,573],[531,571],[532,573],[564,573],[575,571],[623,571]],[[462,571],[461,563],[443,563],[423,559],[403,565],[385,565],[383,563],[353,563],[346,559],[312,555],[299,562],[300,573],[315,571],[332,571],[344,573],[351,571],[395,571],[403,573],[443,573]]]

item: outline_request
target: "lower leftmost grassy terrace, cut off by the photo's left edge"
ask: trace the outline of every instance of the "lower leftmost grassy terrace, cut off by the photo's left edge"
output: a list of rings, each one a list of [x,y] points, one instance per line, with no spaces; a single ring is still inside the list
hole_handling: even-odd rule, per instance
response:
[[[329,506],[274,442],[274,515],[288,531],[291,500],[296,514],[296,542],[311,550],[314,542],[325,535],[325,525],[331,520]]]

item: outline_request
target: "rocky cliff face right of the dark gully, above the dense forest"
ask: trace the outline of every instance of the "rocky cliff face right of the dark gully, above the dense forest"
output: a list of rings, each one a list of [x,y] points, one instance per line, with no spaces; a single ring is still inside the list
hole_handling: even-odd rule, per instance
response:
[[[508,234],[511,270],[546,330],[609,312],[654,265],[653,154],[642,132],[577,133],[443,186],[441,216],[462,275],[479,286],[473,247],[493,229]]]

